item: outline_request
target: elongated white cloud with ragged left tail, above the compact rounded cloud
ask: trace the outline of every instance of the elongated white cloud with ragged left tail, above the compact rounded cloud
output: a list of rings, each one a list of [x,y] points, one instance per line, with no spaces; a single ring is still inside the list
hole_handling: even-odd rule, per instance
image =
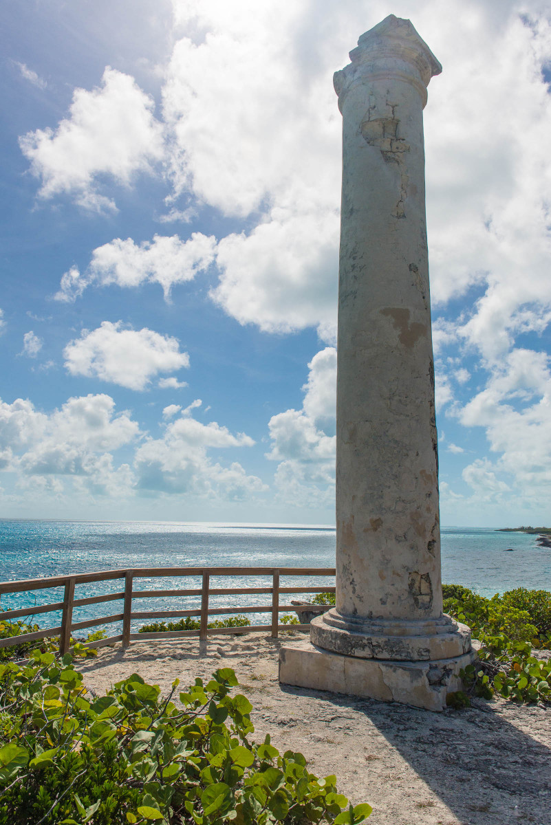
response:
[[[92,261],[81,275],[72,266],[62,276],[59,292],[54,298],[73,301],[92,283],[107,286],[137,287],[144,283],[162,286],[165,299],[170,299],[172,286],[191,281],[205,271],[214,260],[216,240],[200,232],[181,241],[177,235],[154,235],[153,241],[136,244],[132,238],[115,238],[92,252]]]

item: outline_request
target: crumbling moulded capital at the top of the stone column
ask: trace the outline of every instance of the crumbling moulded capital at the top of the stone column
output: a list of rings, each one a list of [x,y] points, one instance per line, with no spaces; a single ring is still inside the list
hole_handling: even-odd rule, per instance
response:
[[[424,108],[426,87],[431,78],[442,71],[440,62],[411,21],[393,14],[360,36],[350,59],[350,64],[333,75],[341,111],[344,98],[352,87],[365,81],[389,78],[416,87]]]

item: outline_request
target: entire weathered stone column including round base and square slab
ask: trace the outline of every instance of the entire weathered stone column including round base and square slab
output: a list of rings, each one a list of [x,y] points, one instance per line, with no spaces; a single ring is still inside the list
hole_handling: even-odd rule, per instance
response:
[[[337,603],[280,680],[431,709],[473,661],[442,613],[422,110],[442,70],[410,21],[361,35],[335,73],[343,118]],[[330,653],[328,653],[330,652]]]

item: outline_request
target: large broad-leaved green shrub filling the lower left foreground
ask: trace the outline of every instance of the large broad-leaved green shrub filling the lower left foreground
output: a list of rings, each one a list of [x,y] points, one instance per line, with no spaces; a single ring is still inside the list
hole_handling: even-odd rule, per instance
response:
[[[0,825],[360,823],[336,777],[260,745],[252,705],[223,668],[162,697],[137,674],[94,698],[65,655],[0,665]]]

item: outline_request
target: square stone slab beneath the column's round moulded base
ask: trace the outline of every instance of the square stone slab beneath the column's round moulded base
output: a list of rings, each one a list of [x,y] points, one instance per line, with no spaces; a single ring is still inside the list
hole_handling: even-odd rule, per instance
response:
[[[462,690],[459,671],[476,656],[471,650],[435,662],[389,662],[342,656],[304,640],[280,648],[280,682],[444,710],[446,695]]]

